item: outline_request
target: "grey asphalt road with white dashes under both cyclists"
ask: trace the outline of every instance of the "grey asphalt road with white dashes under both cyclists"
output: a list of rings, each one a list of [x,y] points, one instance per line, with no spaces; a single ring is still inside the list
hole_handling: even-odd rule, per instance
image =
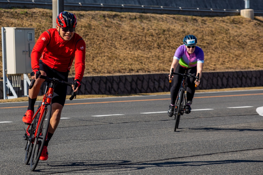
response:
[[[178,132],[169,95],[67,100],[35,172],[24,165],[28,103],[0,103],[0,174],[263,174],[262,97],[196,93]]]

